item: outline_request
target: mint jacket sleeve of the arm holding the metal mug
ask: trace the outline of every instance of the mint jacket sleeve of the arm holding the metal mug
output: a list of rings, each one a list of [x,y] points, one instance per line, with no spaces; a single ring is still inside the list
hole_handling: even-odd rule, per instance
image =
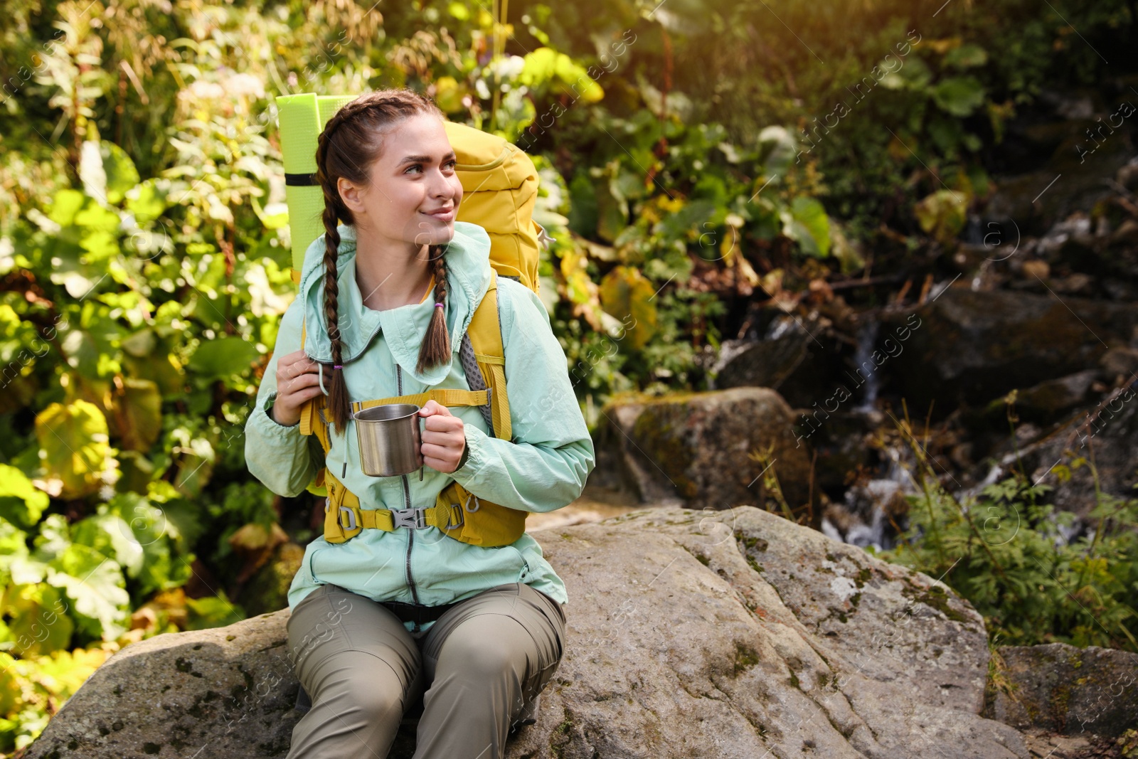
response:
[[[498,278],[497,292],[514,439],[465,422],[465,462],[451,477],[510,509],[554,511],[584,489],[595,465],[593,438],[542,300],[505,278]]]

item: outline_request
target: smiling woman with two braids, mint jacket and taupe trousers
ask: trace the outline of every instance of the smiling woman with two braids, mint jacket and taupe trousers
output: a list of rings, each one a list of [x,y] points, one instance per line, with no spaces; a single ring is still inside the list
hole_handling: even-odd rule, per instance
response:
[[[327,391],[327,464],[361,509],[431,506],[452,479],[525,511],[576,498],[594,451],[564,352],[537,296],[505,277],[497,294],[514,439],[493,437],[476,406],[428,401],[422,478],[363,475],[349,398],[469,389],[459,347],[490,281],[489,237],[454,221],[462,185],[443,114],[412,91],[344,106],[316,163],[325,232],[305,257],[246,423],[249,471],[280,495],[305,490],[322,451],[302,436],[300,409]],[[289,655],[313,706],[288,756],[386,757],[421,695],[417,759],[502,757],[561,660],[567,602],[528,534],[498,547],[436,527],[318,537],[289,589]]]

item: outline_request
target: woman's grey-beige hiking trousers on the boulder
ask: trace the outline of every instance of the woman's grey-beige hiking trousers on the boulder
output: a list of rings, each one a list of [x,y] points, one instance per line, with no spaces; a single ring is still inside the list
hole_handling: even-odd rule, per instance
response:
[[[501,759],[516,718],[552,679],[564,633],[561,604],[522,583],[465,599],[418,638],[382,604],[322,585],[288,620],[312,709],[287,759],[386,759],[420,698],[414,759]]]

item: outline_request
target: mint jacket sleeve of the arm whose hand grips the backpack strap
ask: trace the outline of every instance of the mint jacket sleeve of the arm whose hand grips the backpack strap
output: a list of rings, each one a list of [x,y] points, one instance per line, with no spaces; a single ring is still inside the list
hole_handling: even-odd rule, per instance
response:
[[[280,424],[269,415],[277,399],[277,360],[300,349],[303,303],[296,298],[281,317],[277,346],[257,389],[257,401],[245,421],[245,463],[249,472],[265,487],[287,497],[304,493],[321,465],[320,440],[314,435],[300,435],[300,423]],[[319,454],[319,456],[318,456]]]

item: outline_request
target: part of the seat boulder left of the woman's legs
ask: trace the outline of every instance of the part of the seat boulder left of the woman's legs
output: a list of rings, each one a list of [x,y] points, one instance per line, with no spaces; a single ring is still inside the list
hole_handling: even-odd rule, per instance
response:
[[[64,704],[24,759],[283,757],[299,717],[288,613],[131,643]]]

